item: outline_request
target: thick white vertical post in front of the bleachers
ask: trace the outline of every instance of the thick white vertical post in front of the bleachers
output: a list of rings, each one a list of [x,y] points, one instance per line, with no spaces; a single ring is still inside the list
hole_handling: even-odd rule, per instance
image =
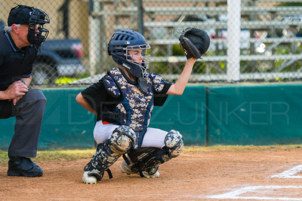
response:
[[[227,64],[228,81],[239,81],[240,76],[240,20],[241,0],[227,0]]]

